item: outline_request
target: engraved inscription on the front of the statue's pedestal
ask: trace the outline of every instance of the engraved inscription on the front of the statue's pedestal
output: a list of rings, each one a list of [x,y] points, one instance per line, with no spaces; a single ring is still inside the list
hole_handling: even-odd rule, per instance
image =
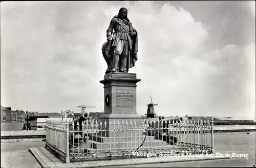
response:
[[[133,108],[133,90],[115,90],[116,107],[120,108]]]

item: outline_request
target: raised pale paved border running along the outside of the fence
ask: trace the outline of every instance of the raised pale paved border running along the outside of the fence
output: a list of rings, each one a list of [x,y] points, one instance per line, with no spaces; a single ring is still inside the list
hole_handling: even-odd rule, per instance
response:
[[[42,167],[103,167],[103,166],[122,166],[148,163],[169,163],[169,162],[186,162],[191,160],[211,160],[211,159],[229,159],[222,156],[180,156],[180,157],[152,157],[152,158],[130,158],[130,159],[113,159],[113,160],[97,160],[97,161],[80,161],[72,163],[63,163],[46,148],[30,148],[31,153],[35,156]]]

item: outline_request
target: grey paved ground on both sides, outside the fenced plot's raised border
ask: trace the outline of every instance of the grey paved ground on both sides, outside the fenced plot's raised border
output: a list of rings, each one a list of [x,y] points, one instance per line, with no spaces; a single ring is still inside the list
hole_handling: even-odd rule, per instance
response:
[[[223,153],[246,153],[248,158],[207,161],[189,161],[176,163],[159,163],[131,165],[121,167],[209,167],[209,166],[252,166],[255,164],[255,132],[250,134],[215,135],[215,149]],[[1,143],[1,167],[40,167],[29,152],[29,148],[45,147],[44,142]]]

